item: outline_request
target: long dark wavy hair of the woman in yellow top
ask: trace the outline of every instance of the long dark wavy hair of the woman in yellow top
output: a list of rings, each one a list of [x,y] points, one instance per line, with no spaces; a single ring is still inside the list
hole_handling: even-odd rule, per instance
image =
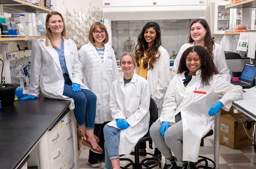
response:
[[[144,32],[147,28],[154,28],[156,30],[156,38],[154,39],[154,44],[148,48],[148,42],[145,40]],[[143,27],[141,33],[138,36],[138,44],[135,46],[135,59],[137,66],[140,66],[140,59],[144,57],[144,52],[147,55],[147,57],[143,60],[143,68],[146,69],[153,69],[154,63],[157,61],[157,58],[160,57],[160,52],[158,51],[158,48],[160,45],[162,45],[161,42],[161,30],[160,26],[156,22],[148,22]],[[158,56],[156,57],[156,55]]]

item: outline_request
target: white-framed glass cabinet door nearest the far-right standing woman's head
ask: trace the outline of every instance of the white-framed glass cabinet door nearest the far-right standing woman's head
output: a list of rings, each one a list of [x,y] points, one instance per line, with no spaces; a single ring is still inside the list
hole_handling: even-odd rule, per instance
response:
[[[224,34],[224,31],[232,28],[233,10],[225,9],[225,4],[215,3],[213,34]]]

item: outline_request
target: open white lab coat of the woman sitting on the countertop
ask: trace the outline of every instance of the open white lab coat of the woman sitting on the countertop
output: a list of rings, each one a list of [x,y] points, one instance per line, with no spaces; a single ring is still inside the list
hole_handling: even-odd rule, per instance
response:
[[[64,77],[57,51],[52,45],[46,45],[45,38],[32,42],[31,89],[29,95],[38,97],[39,89],[45,97],[70,100],[70,110],[75,108],[74,100],[63,96]],[[70,80],[81,88],[87,89],[82,82],[81,63],[78,59],[76,44],[64,39],[64,55]]]

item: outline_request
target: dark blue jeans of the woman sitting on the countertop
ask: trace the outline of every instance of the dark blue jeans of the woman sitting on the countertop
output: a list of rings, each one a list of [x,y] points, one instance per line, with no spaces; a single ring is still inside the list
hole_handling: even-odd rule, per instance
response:
[[[96,116],[96,95],[87,89],[81,89],[80,92],[73,92],[72,82],[67,81],[64,84],[63,95],[74,99],[74,114],[77,124],[85,126],[87,130],[94,130],[94,122]]]

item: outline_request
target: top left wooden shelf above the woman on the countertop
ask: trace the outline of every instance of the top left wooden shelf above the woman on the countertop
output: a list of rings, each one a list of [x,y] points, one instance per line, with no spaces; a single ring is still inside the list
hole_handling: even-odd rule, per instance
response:
[[[0,5],[3,5],[3,9],[7,13],[12,12],[34,12],[34,13],[47,13],[52,11],[50,8],[40,6],[34,3],[26,2],[24,0],[0,0]]]

